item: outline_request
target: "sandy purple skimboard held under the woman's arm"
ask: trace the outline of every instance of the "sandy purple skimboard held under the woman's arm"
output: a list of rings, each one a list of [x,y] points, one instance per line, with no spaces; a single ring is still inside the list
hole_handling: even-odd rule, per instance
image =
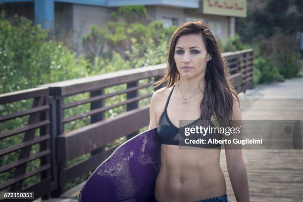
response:
[[[150,202],[160,169],[156,128],[120,145],[88,178],[79,202]]]

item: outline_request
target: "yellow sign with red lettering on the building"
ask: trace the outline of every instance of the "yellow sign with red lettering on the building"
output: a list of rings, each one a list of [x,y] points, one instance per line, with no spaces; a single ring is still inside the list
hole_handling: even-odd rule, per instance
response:
[[[246,17],[246,0],[203,0],[203,13]]]

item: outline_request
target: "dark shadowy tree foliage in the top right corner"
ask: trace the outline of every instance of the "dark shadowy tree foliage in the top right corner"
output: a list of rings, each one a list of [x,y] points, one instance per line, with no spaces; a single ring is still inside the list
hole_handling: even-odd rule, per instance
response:
[[[302,10],[302,0],[270,0],[263,9],[249,12],[247,18],[237,18],[236,32],[245,42],[270,38],[278,32],[293,36],[303,32]]]

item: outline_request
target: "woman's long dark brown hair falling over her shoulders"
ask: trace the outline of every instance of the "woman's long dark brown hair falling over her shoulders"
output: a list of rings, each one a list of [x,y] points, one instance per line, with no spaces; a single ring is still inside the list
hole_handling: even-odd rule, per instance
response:
[[[174,52],[178,39],[189,34],[201,35],[207,53],[211,55],[211,60],[207,62],[205,70],[205,90],[200,104],[200,118],[202,120],[210,120],[214,116],[219,122],[227,121],[229,123],[233,114],[233,94],[238,101],[239,99],[231,85],[226,60],[221,54],[217,40],[207,25],[201,21],[184,23],[173,33],[167,53],[166,72],[159,81],[153,84],[153,87],[164,84],[168,79],[166,88],[169,88],[180,80]]]

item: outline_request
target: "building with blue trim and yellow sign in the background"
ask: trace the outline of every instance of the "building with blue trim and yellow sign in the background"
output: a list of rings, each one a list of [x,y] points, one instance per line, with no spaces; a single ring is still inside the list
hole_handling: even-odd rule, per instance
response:
[[[102,27],[110,13],[123,5],[144,5],[148,19],[165,26],[202,20],[214,35],[225,41],[235,35],[235,17],[246,17],[246,0],[0,0],[8,13],[20,14],[43,27],[71,30],[75,42],[90,32],[92,25]],[[21,6],[21,8],[20,8]]]

